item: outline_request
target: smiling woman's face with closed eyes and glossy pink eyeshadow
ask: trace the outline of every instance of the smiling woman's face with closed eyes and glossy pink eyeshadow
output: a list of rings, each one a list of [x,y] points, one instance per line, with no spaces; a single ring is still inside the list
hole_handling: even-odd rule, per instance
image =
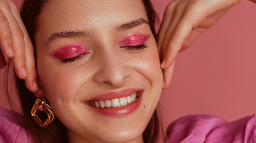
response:
[[[49,100],[70,142],[142,140],[162,89],[147,21],[140,0],[52,0],[44,6],[35,35],[42,89],[35,95]]]

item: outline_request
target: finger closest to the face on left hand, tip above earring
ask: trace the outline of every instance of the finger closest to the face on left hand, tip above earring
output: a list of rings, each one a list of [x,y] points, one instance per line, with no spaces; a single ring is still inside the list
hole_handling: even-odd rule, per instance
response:
[[[16,9],[14,9],[16,10]],[[28,78],[25,79],[26,87],[35,92],[38,89],[37,81],[36,81],[36,67],[35,67],[35,58],[34,58],[34,48],[32,41],[30,40],[27,29],[20,17],[18,11],[12,11],[14,17],[16,18],[20,28],[24,33],[24,41],[25,41],[25,58],[26,58],[26,68],[28,73]]]

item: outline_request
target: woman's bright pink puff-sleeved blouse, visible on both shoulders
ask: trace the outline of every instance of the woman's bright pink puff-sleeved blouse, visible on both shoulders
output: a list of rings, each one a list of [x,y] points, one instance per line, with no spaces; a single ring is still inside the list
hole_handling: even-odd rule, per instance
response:
[[[14,113],[17,119],[22,115]],[[0,143],[33,143],[13,112],[0,108]],[[190,115],[172,122],[166,143],[256,143],[256,115],[231,123],[211,115]]]

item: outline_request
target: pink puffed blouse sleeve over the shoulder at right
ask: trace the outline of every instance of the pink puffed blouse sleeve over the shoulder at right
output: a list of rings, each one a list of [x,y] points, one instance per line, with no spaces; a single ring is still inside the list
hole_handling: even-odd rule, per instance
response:
[[[211,115],[190,115],[172,122],[166,143],[254,143],[256,115],[227,123]]]

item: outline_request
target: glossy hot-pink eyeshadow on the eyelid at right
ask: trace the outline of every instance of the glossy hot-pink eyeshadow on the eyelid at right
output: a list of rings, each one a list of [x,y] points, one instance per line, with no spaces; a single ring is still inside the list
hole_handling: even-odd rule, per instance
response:
[[[150,35],[132,33],[128,34],[124,39],[121,40],[120,46],[137,46],[145,43],[149,39]]]

